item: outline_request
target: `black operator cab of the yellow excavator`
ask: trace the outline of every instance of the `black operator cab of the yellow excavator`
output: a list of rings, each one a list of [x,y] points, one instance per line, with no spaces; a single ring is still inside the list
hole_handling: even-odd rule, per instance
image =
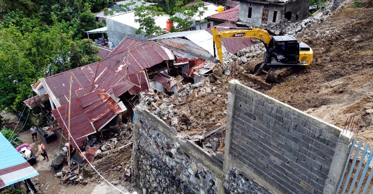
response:
[[[293,36],[273,36],[268,46],[267,65],[298,64],[299,43]]]

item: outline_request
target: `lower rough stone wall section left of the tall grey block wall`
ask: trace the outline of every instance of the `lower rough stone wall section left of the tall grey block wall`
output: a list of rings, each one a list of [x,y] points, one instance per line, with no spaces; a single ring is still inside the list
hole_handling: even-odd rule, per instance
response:
[[[204,152],[141,106],[134,114],[135,185],[146,193],[222,193],[222,156]]]

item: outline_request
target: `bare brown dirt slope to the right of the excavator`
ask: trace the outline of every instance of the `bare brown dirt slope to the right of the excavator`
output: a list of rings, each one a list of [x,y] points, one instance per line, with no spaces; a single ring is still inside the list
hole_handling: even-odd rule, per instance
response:
[[[265,93],[341,128],[355,116],[356,136],[372,142],[373,8],[348,6],[297,36],[313,48],[312,67]]]

